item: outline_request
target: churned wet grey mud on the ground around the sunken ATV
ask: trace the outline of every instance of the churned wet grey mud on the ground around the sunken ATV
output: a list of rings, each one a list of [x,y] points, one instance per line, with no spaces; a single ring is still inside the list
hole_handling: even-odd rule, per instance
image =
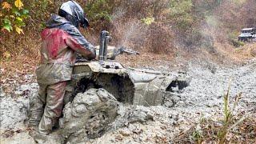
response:
[[[158,65],[157,68],[171,70],[168,66]],[[236,94],[242,93],[235,113],[255,113],[256,59],[236,66],[187,62],[182,71],[190,76],[191,82],[190,86],[178,94],[180,99],[174,107],[170,107],[168,103],[150,107],[122,106],[119,109],[121,117],[111,124],[111,129],[101,138],[88,139],[87,142],[172,143],[178,135],[190,130],[202,118],[218,120],[223,117],[223,95],[226,94],[229,83],[231,103]],[[30,98],[36,94],[38,85],[34,81],[34,75],[23,77],[26,79],[25,84],[14,84],[13,80],[6,80],[5,85],[1,85],[1,143],[34,143],[24,122],[26,123]],[[14,89],[5,93],[3,89],[10,86],[14,86]],[[137,120],[126,121],[126,118]],[[121,128],[118,122],[124,122]]]

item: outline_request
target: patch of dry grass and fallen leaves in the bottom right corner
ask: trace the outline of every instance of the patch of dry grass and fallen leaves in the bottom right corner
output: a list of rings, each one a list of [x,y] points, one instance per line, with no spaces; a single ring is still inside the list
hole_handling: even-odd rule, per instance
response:
[[[182,135],[173,139],[174,143],[254,143],[256,142],[256,110],[246,110],[238,114],[234,111],[242,93],[234,97],[230,105],[230,85],[223,96],[223,113],[221,120],[200,118],[197,125],[192,126]]]

